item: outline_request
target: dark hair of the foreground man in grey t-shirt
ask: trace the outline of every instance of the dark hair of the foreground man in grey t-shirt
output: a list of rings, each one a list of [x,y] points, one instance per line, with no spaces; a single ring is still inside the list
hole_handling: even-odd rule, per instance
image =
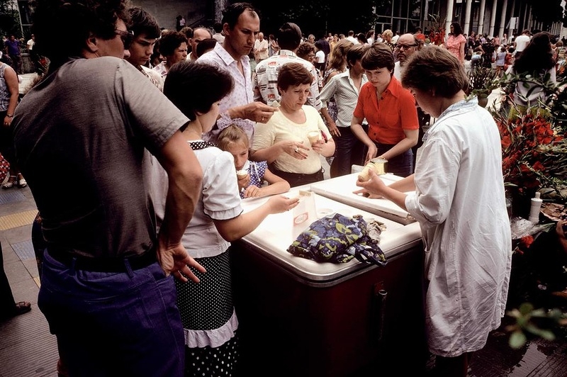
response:
[[[110,40],[116,37],[118,19],[126,26],[130,23],[129,0],[38,0],[35,4],[33,48],[50,60],[50,71],[69,57],[81,56],[91,33]]]

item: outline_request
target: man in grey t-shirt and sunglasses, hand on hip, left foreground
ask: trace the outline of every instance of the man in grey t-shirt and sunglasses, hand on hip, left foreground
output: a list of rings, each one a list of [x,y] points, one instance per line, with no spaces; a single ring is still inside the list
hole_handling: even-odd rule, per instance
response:
[[[127,6],[37,1],[34,49],[50,67],[12,123],[47,244],[38,307],[70,376],[183,376],[173,278],[204,272],[181,244],[202,181],[179,131],[189,119],[123,60]],[[169,176],[159,234],[147,151]]]

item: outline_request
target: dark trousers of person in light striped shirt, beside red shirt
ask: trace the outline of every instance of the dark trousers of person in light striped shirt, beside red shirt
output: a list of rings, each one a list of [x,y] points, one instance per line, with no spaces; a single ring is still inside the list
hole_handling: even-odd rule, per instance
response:
[[[353,164],[364,164],[365,146],[359,138],[352,133],[350,127],[340,127],[340,136],[333,136],[335,140],[335,159],[332,160],[330,176],[344,176],[351,174]]]

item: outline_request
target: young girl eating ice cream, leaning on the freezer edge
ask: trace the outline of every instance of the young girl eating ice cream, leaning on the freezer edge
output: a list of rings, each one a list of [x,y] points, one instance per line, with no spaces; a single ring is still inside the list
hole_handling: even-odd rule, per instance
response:
[[[248,173],[242,177],[237,175],[240,198],[254,198],[289,191],[288,181],[269,171],[267,162],[249,161],[248,136],[241,128],[229,125],[218,135],[217,145],[221,150],[232,154],[237,171]],[[269,185],[264,186],[264,181]]]

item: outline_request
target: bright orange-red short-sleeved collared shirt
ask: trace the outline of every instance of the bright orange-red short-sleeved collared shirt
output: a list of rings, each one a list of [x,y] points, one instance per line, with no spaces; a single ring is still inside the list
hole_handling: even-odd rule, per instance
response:
[[[383,92],[380,102],[376,88],[367,82],[360,89],[354,116],[366,118],[369,124],[368,135],[371,140],[381,144],[395,145],[405,139],[403,130],[419,130],[415,99],[400,81],[392,77]]]

